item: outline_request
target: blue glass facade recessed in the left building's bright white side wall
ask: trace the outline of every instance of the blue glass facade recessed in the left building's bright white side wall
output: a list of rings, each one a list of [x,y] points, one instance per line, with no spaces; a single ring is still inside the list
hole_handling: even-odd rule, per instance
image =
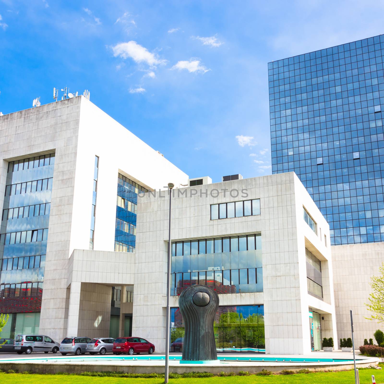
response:
[[[135,252],[137,194],[148,190],[118,175],[118,194],[116,202],[115,251]]]

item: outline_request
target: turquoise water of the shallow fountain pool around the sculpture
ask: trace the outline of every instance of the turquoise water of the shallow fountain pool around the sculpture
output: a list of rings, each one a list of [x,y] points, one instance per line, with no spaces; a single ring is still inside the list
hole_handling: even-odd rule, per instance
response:
[[[181,360],[182,356],[169,356],[170,361],[177,361]],[[66,357],[57,357],[57,358],[30,358],[30,359],[2,359],[0,360],[0,364],[2,362],[10,362],[10,361],[17,361],[17,362],[46,362],[46,361],[53,361],[53,360],[81,360],[81,361],[159,361],[159,360],[165,360],[165,356],[162,355],[146,355],[146,356],[128,356],[128,355],[122,355],[122,356],[115,356],[115,355],[108,355],[108,356],[66,356]],[[356,359],[356,361],[360,361],[361,359]],[[306,362],[345,362],[345,361],[353,361],[353,359],[316,359],[316,358],[290,358],[290,357],[280,357],[280,358],[273,358],[273,357],[265,357],[265,356],[218,356],[218,361],[254,361],[254,362],[300,362],[300,363],[306,363]],[[197,364],[199,364],[197,362]]]

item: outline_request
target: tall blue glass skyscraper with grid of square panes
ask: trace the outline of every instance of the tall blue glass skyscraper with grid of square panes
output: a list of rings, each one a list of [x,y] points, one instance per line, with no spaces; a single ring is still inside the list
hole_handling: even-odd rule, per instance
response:
[[[268,63],[272,173],[294,171],[331,245],[384,241],[384,35]]]

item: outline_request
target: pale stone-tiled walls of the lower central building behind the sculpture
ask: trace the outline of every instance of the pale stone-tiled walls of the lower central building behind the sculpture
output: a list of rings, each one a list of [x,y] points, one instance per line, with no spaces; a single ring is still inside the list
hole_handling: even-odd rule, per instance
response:
[[[334,306],[331,274],[325,276],[328,302],[314,300],[307,293],[306,242],[312,244],[321,260],[328,263],[331,260],[330,248],[303,220],[303,204],[328,238],[329,227],[300,180],[291,172],[193,189],[198,190],[197,195],[190,195],[191,188],[182,189],[184,195],[175,191],[172,241],[261,233],[264,292],[219,295],[220,305],[264,304],[267,353],[308,353],[309,304],[332,314],[333,319]],[[238,197],[231,197],[228,191],[232,189],[240,191]],[[247,197],[241,197],[242,189],[247,190]],[[221,192],[218,197],[212,197],[212,190]],[[257,198],[260,198],[261,215],[210,220],[210,204]],[[159,352],[165,349],[168,215],[167,196],[148,194],[141,199],[137,215],[132,334],[150,339]],[[171,305],[177,306],[176,297]]]

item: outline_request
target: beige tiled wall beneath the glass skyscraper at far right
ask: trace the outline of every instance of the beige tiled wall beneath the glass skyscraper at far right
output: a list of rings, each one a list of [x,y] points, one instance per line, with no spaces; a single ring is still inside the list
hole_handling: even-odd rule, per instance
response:
[[[384,243],[334,245],[332,248],[334,295],[338,340],[351,337],[349,310],[353,311],[356,346],[372,338],[376,329],[384,325],[366,319],[371,317],[365,306],[371,293],[371,276],[379,275],[384,263]]]

